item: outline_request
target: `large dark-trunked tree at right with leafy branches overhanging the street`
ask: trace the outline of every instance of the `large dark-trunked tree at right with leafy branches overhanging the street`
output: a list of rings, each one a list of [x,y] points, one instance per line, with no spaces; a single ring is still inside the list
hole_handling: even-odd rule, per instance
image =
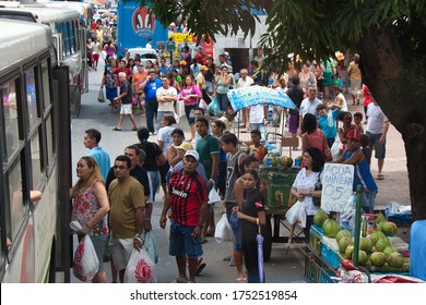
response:
[[[146,2],[142,0],[142,2]],[[269,13],[261,48],[285,69],[286,54],[362,57],[363,81],[405,144],[413,219],[426,219],[426,1],[416,0],[151,0],[163,22],[187,21],[193,34],[246,35],[252,9]],[[395,187],[398,187],[395,185]]]

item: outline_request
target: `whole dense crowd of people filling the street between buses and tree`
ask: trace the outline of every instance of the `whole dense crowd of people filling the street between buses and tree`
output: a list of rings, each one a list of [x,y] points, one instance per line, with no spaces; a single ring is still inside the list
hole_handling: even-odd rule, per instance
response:
[[[306,237],[315,211],[319,209],[312,198],[321,195],[316,187],[324,162],[353,164],[354,191],[362,185],[363,209],[374,211],[378,186],[370,171],[371,151],[375,149],[378,159],[377,180],[382,180],[386,135],[390,123],[367,86],[362,86],[359,82],[351,83],[353,105],[359,103],[364,96],[365,106],[364,114],[356,112],[353,115],[341,84],[333,83],[333,78],[339,78],[339,70],[343,69],[333,60],[319,63],[306,61],[301,63],[300,71],[294,62],[289,62],[283,74],[263,66],[263,61],[259,50],[250,62],[250,69],[241,69],[234,74],[227,52],[218,57],[218,64],[214,64],[211,57],[203,54],[202,48],[198,48],[192,58],[189,48],[184,46],[180,61],[176,60],[170,66],[164,66],[163,59],[143,66],[138,56],[131,59],[127,54],[118,60],[107,56],[100,87],[106,87],[113,109],[120,107],[114,131],[121,131],[127,115],[139,142],[127,147],[125,155],[118,156],[109,169],[109,159],[99,158],[103,155],[97,145],[100,134],[86,131],[85,145],[96,161],[95,164],[86,159],[79,161],[80,180],[71,195],[75,198],[74,208],[81,206],[78,205],[79,195],[85,193],[90,193],[93,204],[98,206],[93,209],[96,211],[92,215],[94,220],[81,216],[75,216],[75,219],[85,221],[81,223],[85,224],[85,229],[79,234],[94,233],[93,228],[97,225],[104,228],[102,234],[109,236],[107,246],[111,253],[111,269],[116,270],[113,281],[117,280],[117,273],[122,281],[131,251],[143,245],[143,231],[152,230],[152,205],[159,187],[165,194],[159,225],[165,229],[170,219],[169,255],[176,256],[178,267],[174,282],[194,282],[205,267],[202,244],[215,233],[213,207],[209,204],[212,188],[218,192],[233,227],[234,246],[232,255],[225,258],[230,266],[237,267],[236,280],[264,281],[264,274],[259,277],[255,236],[265,223],[258,172],[259,162],[268,154],[262,135],[265,125],[271,123],[270,112],[285,111],[288,132],[300,138],[300,147],[295,145],[293,149],[301,149],[304,161],[292,195],[305,203],[308,216]],[[360,73],[358,63],[359,57],[355,54],[347,69],[351,80],[352,76],[356,80]],[[296,109],[257,105],[237,113],[229,105],[227,91],[247,86],[283,90],[292,98]],[[213,100],[221,110],[216,115],[208,110]],[[177,123],[179,101],[190,129],[188,139]],[[132,113],[134,108],[145,115],[146,126],[138,126]],[[251,135],[251,144],[244,150],[238,137],[232,133],[237,114],[241,126]],[[153,135],[157,135],[156,142],[149,141]],[[83,167],[88,168],[86,172],[91,174],[79,170]],[[102,175],[94,174],[97,169],[102,170]],[[109,171],[107,176],[105,170]],[[109,213],[105,208],[105,196],[98,198],[99,194],[95,192],[102,184],[106,185]],[[109,221],[105,222],[108,215]],[[109,223],[109,233],[105,223]],[[99,230],[97,234],[100,234]],[[96,247],[99,257],[104,248],[105,244]],[[104,279],[99,276],[96,281]]]

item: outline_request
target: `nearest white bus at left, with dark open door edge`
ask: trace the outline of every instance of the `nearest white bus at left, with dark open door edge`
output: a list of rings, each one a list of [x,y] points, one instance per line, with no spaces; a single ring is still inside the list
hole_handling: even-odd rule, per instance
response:
[[[48,26],[0,19],[0,279],[69,282],[69,66]]]

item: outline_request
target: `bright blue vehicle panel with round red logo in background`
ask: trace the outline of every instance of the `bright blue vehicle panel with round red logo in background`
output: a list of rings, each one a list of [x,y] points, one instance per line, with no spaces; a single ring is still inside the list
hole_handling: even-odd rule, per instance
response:
[[[134,1],[120,1],[118,4],[117,56],[122,57],[129,48],[144,48],[152,38],[152,47],[166,42],[168,28],[155,20],[154,13]]]

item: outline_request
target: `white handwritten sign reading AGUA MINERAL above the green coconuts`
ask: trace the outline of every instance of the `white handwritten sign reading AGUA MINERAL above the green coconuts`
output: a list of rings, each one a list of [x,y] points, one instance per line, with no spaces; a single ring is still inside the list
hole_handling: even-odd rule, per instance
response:
[[[321,209],[343,211],[351,197],[354,183],[354,166],[326,163],[322,171]]]

